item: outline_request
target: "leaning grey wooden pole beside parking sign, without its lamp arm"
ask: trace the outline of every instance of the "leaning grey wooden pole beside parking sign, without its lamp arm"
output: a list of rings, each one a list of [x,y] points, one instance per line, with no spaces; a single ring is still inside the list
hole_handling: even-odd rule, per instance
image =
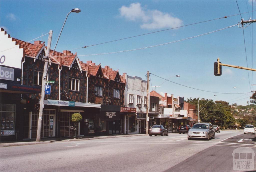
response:
[[[43,57],[43,60],[45,61],[45,66],[44,66],[44,72],[43,72],[40,108],[39,108],[39,114],[38,114],[37,135],[36,135],[37,142],[40,142],[40,137],[41,137],[42,116],[43,116],[43,108],[44,108],[43,106],[44,106],[44,99],[45,99],[45,83],[46,83],[46,76],[47,76],[47,67],[49,62],[48,59],[49,59],[50,50],[51,50],[51,37],[52,37],[52,30],[50,30],[49,32],[46,56]]]

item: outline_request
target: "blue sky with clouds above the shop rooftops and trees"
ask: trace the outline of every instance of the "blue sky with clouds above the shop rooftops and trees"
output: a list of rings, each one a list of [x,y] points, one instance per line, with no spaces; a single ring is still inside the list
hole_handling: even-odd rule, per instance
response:
[[[256,18],[255,0],[237,0],[242,18]],[[57,51],[77,52],[81,61],[92,60],[119,70],[120,74],[146,79],[150,71],[150,86],[159,86],[157,92],[167,92],[187,98],[206,98],[228,101],[230,104],[247,105],[256,90],[256,73],[222,66],[222,75],[214,76],[213,64],[220,58],[225,64],[256,68],[256,23],[243,29],[234,26],[204,36],[195,37],[142,50],[119,52],[150,47],[202,35],[238,24],[241,21],[235,0],[226,1],[6,1],[0,2],[0,27],[11,37],[30,41],[53,30],[52,47],[66,15],[72,8],[80,13],[71,13],[58,42]],[[252,4],[253,3],[253,4]],[[248,13],[249,12],[249,13]],[[239,14],[239,15],[237,15]],[[217,19],[224,16],[227,18]],[[216,20],[212,20],[216,19]],[[179,27],[206,20],[200,24],[180,27],[130,39],[90,46],[112,40],[132,37],[159,30]],[[254,33],[254,35],[253,35]],[[47,43],[48,35],[39,38]],[[33,43],[33,41],[31,42]],[[81,48],[90,46],[87,48]],[[246,52],[245,52],[246,47]],[[79,49],[77,49],[79,48]],[[253,49],[254,48],[254,49]],[[254,50],[254,51],[253,51]],[[247,54],[247,61],[246,61]],[[254,84],[254,86],[252,85]],[[233,87],[237,87],[234,89]],[[151,88],[152,90],[152,88]],[[214,96],[216,95],[216,96]],[[241,99],[241,100],[239,100]]]

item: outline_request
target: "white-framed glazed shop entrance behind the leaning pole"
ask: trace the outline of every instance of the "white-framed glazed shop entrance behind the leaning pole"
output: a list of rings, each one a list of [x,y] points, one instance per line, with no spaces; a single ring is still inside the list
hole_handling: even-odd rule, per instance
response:
[[[37,135],[38,111],[29,115],[29,138],[35,139]],[[41,138],[55,137],[55,109],[44,109],[42,116]]]

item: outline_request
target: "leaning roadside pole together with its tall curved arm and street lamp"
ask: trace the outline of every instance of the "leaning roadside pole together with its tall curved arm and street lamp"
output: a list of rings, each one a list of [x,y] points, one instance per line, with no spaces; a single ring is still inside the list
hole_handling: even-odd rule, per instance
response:
[[[79,8],[74,8],[74,9],[72,9],[72,10],[68,13],[68,15],[69,15],[71,12],[72,12],[72,13],[79,13],[79,12],[81,12],[81,10],[80,10]],[[65,25],[65,23],[66,23],[66,20],[67,20],[67,18],[68,18],[68,15],[67,15],[67,17],[66,17],[66,19],[65,19],[65,21],[64,21],[64,23],[63,23],[63,25],[62,25],[60,34],[61,34],[61,32],[62,32],[62,30],[63,30],[63,27],[64,27],[64,25]],[[41,125],[42,125],[43,105],[44,105],[44,99],[45,99],[46,75],[47,75],[47,70],[48,70],[48,64],[49,64],[49,62],[51,61],[51,59],[49,59],[49,61],[48,61],[48,59],[47,59],[47,58],[50,56],[49,54],[50,54],[50,50],[51,50],[51,48],[50,48],[50,47],[51,47],[51,36],[52,36],[52,30],[50,30],[50,34],[49,34],[49,38],[48,38],[48,45],[47,45],[48,47],[47,47],[47,53],[46,53],[46,56],[47,56],[47,57],[44,58],[45,64],[44,64],[44,72],[43,72],[43,77],[42,77],[42,88],[41,88],[40,108],[39,108],[39,114],[38,114],[37,135],[36,135],[36,141],[37,141],[37,142],[40,142],[40,137],[41,137]],[[58,40],[57,40],[57,42],[56,42],[54,51],[55,51],[55,49],[56,49],[57,43],[58,43],[58,41],[59,41],[59,38],[60,38],[60,35],[59,35]],[[54,55],[54,51],[53,51],[53,53],[52,53],[52,56]]]

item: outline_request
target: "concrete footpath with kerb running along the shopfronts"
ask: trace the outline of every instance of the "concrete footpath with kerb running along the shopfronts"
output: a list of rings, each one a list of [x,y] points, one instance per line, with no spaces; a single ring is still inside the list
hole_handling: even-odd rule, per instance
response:
[[[0,142],[0,147],[7,146],[22,146],[22,145],[34,145],[34,144],[45,144],[52,142],[71,142],[71,141],[80,141],[80,140],[94,140],[94,139],[108,139],[116,137],[131,137],[131,136],[141,136],[146,134],[118,134],[118,135],[107,135],[107,136],[77,136],[76,138],[42,138],[40,142],[36,142],[36,139],[29,140],[20,140],[20,141],[3,141]]]

